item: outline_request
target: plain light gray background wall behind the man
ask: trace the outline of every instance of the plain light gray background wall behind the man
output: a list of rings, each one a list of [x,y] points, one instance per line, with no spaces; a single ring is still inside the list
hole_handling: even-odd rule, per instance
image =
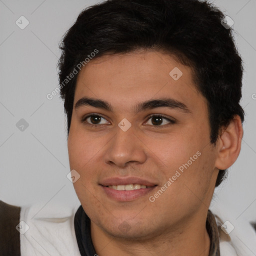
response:
[[[66,121],[58,86],[58,43],[78,13],[94,0],[0,0],[0,200],[15,205],[78,201],[69,171]],[[242,148],[212,203],[256,220],[256,0],[215,0],[234,20],[235,40],[244,61],[246,113]],[[29,24],[20,29],[21,16]],[[253,99],[254,95],[254,99]],[[29,126],[20,131],[24,118]]]

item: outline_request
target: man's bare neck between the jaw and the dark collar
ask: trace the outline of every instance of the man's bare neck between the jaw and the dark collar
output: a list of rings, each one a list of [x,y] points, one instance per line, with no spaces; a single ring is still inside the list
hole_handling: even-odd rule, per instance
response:
[[[210,238],[205,227],[206,214],[197,212],[189,220],[182,220],[175,227],[156,230],[154,235],[146,238],[113,236],[91,221],[91,239],[100,256],[208,256]]]

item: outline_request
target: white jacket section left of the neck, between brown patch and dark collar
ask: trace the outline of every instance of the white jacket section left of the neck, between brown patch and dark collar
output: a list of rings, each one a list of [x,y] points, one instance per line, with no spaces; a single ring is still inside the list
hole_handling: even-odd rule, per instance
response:
[[[74,231],[74,215],[80,204],[36,203],[21,207],[26,227],[20,235],[23,255],[80,255]]]

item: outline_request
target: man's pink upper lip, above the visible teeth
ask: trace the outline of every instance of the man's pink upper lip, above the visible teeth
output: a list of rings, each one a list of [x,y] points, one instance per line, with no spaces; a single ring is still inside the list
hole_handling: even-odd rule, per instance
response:
[[[128,185],[128,184],[140,184],[146,186],[154,186],[155,182],[152,180],[139,178],[139,177],[109,177],[104,178],[99,182],[100,185],[109,186],[109,185]]]

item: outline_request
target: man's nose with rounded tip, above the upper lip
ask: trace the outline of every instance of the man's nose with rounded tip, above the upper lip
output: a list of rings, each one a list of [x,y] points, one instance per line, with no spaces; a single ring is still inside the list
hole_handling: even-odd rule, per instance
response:
[[[104,160],[110,165],[126,167],[131,163],[143,163],[147,157],[146,145],[139,138],[139,133],[135,133],[132,125],[126,131],[117,127],[116,134],[107,146]]]

